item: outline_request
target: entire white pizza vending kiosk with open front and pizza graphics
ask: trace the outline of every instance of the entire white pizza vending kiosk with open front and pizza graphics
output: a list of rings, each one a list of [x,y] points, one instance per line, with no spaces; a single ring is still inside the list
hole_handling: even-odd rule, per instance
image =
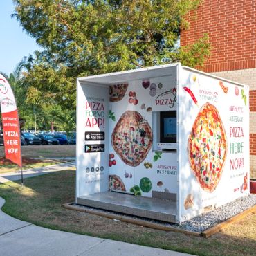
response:
[[[76,203],[181,223],[248,195],[248,93],[181,64],[78,78]]]

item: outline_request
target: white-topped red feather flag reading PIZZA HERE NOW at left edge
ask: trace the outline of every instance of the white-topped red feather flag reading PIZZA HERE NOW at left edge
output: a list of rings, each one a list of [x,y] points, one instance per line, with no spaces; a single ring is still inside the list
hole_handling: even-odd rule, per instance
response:
[[[10,84],[0,74],[0,101],[3,123],[3,142],[6,158],[22,167],[21,134],[15,95]]]

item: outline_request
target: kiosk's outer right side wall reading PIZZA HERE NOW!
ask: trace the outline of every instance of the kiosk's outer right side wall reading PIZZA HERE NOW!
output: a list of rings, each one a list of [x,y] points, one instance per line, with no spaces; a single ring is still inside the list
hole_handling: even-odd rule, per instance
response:
[[[249,194],[248,86],[183,68],[181,220]]]

